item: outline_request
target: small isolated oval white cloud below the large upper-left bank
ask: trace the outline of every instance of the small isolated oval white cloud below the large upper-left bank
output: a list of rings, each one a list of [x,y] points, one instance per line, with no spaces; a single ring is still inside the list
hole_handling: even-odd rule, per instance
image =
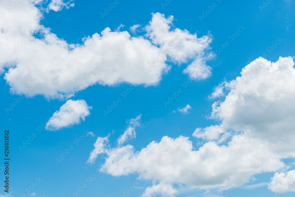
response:
[[[81,120],[90,115],[90,110],[85,100],[68,100],[46,123],[47,130],[58,130],[74,124],[79,124]]]

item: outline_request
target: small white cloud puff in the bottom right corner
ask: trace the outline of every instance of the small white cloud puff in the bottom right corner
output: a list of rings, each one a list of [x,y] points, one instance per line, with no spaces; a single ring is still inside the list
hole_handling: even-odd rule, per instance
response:
[[[287,173],[276,172],[271,178],[271,183],[268,184],[268,189],[276,193],[287,193],[295,191],[295,170]]]

